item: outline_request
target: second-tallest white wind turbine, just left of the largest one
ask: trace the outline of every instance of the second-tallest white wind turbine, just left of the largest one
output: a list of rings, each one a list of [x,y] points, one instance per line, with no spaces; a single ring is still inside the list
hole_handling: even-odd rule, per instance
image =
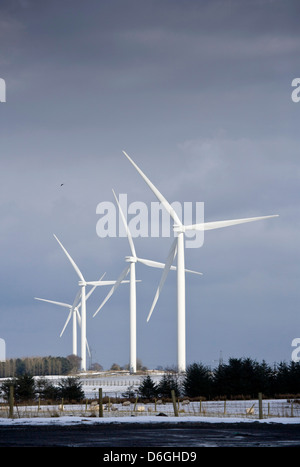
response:
[[[107,300],[112,296],[112,294],[115,292],[115,290],[119,287],[121,281],[127,276],[127,274],[130,271],[130,300],[129,300],[129,304],[130,304],[130,352],[129,352],[130,355],[129,355],[129,360],[130,360],[130,362],[129,362],[129,369],[130,369],[131,373],[135,373],[136,372],[136,360],[137,360],[137,355],[136,355],[136,282],[137,281],[136,281],[136,275],[135,275],[135,264],[136,263],[142,263],[142,264],[145,264],[146,266],[149,266],[149,267],[152,267],[152,268],[159,268],[159,269],[163,269],[165,267],[165,264],[164,263],[159,263],[157,261],[152,261],[152,260],[149,260],[149,259],[139,258],[136,255],[136,251],[135,251],[135,247],[134,247],[134,243],[133,243],[133,239],[132,239],[130,229],[129,229],[128,225],[127,225],[124,213],[123,213],[122,208],[120,206],[120,203],[119,203],[119,201],[118,201],[118,199],[116,197],[116,194],[115,194],[114,190],[112,190],[112,191],[113,191],[113,195],[115,197],[116,203],[117,203],[117,205],[119,207],[119,211],[120,211],[120,215],[121,215],[124,227],[126,229],[127,238],[128,238],[130,249],[131,249],[131,256],[126,256],[125,257],[125,261],[127,263],[129,263],[129,265],[126,266],[126,268],[122,271],[120,277],[118,278],[116,283],[113,285],[113,287],[110,289],[109,293],[107,294],[107,296],[105,297],[105,299],[103,300],[103,302],[101,303],[99,308],[96,310],[93,317],[95,317],[96,314],[101,310],[101,308],[105,305]],[[174,255],[173,255],[173,257],[174,257]],[[173,258],[172,258],[171,262],[172,261],[173,261]],[[176,270],[177,268],[176,268],[176,266],[171,266],[170,269]],[[186,272],[202,275],[201,272],[191,271],[189,269],[186,269]]]

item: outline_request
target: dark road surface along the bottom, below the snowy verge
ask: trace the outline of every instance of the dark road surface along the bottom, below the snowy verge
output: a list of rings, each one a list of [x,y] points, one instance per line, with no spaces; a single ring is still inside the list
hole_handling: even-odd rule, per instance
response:
[[[300,425],[265,423],[0,426],[0,447],[300,447]]]

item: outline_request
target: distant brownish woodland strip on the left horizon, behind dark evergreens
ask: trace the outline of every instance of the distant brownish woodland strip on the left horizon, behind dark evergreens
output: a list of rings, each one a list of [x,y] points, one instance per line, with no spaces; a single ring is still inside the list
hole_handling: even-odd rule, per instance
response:
[[[25,374],[32,376],[67,375],[79,369],[80,358],[68,357],[26,357],[11,358],[0,362],[0,378],[17,377]]]

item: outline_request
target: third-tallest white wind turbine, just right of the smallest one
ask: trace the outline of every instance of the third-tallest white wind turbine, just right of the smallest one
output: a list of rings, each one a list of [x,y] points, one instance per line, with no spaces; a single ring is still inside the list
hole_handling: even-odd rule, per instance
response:
[[[77,266],[73,258],[70,256],[70,254],[67,252],[65,247],[58,240],[56,235],[54,235],[54,237],[58,241],[62,250],[65,252],[67,258],[69,259],[70,263],[72,264],[73,268],[75,269],[80,279],[78,281],[78,285],[80,287],[80,292],[81,292],[81,370],[85,371],[86,370],[86,344],[85,344],[86,343],[86,286],[87,285],[93,285],[93,286],[112,285],[112,284],[115,284],[116,281],[89,281],[87,282],[84,279],[83,274],[80,271],[79,267]],[[128,281],[124,281],[124,282],[128,282]]]

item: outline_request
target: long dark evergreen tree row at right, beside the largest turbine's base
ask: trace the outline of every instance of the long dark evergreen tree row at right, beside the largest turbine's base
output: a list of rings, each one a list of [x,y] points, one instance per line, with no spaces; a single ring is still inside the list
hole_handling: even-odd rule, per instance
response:
[[[184,375],[166,372],[158,384],[146,376],[138,388],[138,396],[144,399],[170,398],[172,389],[177,397],[206,399],[256,398],[259,392],[269,398],[299,395],[300,363],[292,361],[271,367],[250,358],[230,358],[228,364],[221,364],[214,370],[201,363],[193,363]]]

